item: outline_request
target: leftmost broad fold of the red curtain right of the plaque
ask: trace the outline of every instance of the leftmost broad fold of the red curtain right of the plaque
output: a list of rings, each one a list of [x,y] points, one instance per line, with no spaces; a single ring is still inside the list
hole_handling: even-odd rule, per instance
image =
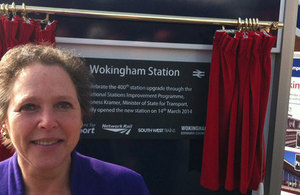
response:
[[[220,186],[220,166],[219,166],[219,153],[220,141],[219,141],[219,113],[220,113],[220,92],[222,81],[221,77],[221,43],[225,37],[225,33],[215,33],[212,51],[212,61],[210,67],[209,77],[209,91],[207,102],[207,119],[206,130],[203,148],[203,161],[202,161],[202,175],[201,184],[211,190],[217,190]],[[220,90],[219,90],[220,89]],[[210,141],[212,140],[212,141]],[[207,148],[207,149],[206,149]],[[209,149],[209,150],[208,150]],[[211,168],[213,167],[213,168]],[[210,171],[206,171],[210,170]]]

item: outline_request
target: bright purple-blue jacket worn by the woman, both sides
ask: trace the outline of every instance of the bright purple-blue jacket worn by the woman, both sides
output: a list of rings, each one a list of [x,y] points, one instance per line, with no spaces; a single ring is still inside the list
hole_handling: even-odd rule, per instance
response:
[[[71,167],[72,195],[150,195],[138,173],[74,151]],[[16,153],[0,162],[0,195],[24,195]]]

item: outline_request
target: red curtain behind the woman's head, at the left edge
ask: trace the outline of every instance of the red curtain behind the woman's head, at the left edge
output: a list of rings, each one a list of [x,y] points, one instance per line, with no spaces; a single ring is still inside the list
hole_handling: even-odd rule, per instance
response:
[[[9,49],[26,43],[46,44],[55,46],[55,30],[57,21],[41,25],[34,19],[23,19],[14,16],[0,18],[0,57]],[[0,161],[9,158],[13,151],[0,144]]]

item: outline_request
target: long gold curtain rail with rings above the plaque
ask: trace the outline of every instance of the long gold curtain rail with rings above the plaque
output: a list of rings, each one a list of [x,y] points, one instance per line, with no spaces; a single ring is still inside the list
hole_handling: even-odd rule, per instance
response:
[[[207,24],[207,25],[244,26],[244,27],[246,25],[246,27],[248,27],[248,25],[252,25],[251,21],[254,21],[254,19],[253,20],[249,19],[248,22],[248,19],[241,20],[241,19],[205,18],[205,17],[188,17],[188,16],[173,16],[173,15],[159,15],[159,14],[143,14],[143,13],[25,6],[25,4],[15,5],[14,3],[12,5],[7,5],[6,7],[9,11],[13,11],[13,12],[46,13],[46,14],[67,15],[67,16],[76,16],[76,17],[107,18],[107,19],[121,19],[121,20],[135,20],[135,21],[167,22],[167,23]],[[255,19],[255,21],[258,20]],[[283,28],[283,23],[281,22],[258,21],[256,25],[263,28],[271,28],[273,30],[276,30],[278,28]]]

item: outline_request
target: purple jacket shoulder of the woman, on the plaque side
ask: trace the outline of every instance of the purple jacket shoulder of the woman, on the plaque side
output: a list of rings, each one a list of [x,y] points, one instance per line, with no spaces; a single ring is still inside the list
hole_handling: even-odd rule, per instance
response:
[[[89,190],[101,194],[149,194],[143,177],[135,171],[78,152],[72,155],[72,164],[74,164],[71,177],[76,188],[79,187],[78,185],[85,184],[89,186]]]

